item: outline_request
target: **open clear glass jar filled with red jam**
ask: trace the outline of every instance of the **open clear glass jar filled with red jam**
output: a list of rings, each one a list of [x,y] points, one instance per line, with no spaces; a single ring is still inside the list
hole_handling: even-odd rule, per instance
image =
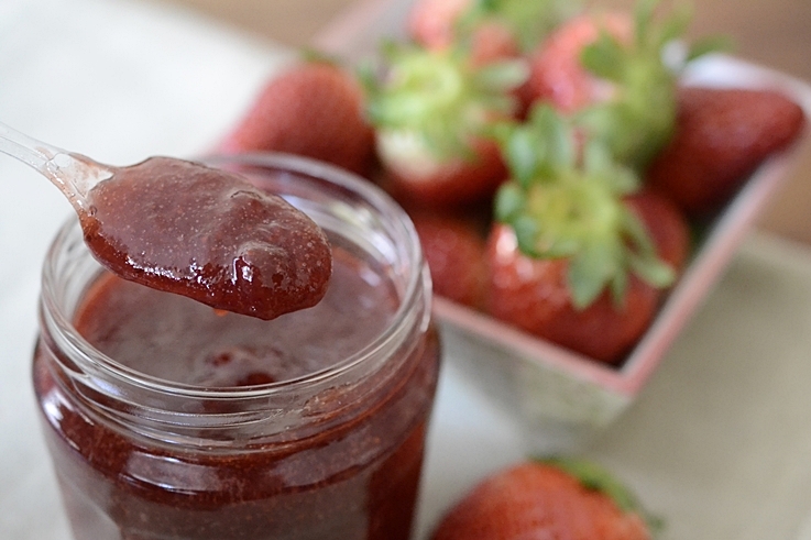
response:
[[[242,340],[230,352],[186,363],[217,331],[198,322],[189,331],[183,323],[196,316],[184,305],[178,322],[164,297],[121,300],[124,287],[141,286],[102,269],[78,223],[67,223],[44,264],[33,378],[74,537],[407,539],[439,362],[410,221],[371,184],[308,159],[209,165],[243,173],[325,229],[336,253],[332,311],[243,321],[202,307],[201,317],[260,327],[229,327],[224,334]],[[140,326],[128,326],[131,316]],[[298,316],[308,318],[289,323]],[[98,345],[116,332],[129,343],[125,360]],[[246,359],[253,340],[285,343],[281,357],[304,371],[257,376],[262,362],[282,361]]]

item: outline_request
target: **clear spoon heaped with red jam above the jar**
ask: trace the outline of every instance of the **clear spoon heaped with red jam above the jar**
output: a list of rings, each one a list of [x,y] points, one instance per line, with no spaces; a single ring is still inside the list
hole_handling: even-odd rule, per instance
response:
[[[90,252],[124,279],[261,319],[326,294],[324,231],[240,175],[172,157],[112,167],[2,123],[0,153],[62,190]]]

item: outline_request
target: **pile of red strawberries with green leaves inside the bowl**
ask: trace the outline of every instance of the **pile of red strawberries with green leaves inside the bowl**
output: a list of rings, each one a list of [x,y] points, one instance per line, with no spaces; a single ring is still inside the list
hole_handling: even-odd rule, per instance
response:
[[[302,60],[223,141],[377,183],[438,295],[616,364],[712,217],[804,125],[770,90],[687,88],[689,16],[566,0],[420,0],[355,70]]]

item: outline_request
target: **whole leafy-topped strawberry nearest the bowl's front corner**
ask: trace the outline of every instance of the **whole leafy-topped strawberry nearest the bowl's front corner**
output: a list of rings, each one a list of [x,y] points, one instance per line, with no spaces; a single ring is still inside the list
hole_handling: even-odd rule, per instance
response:
[[[638,176],[601,141],[580,148],[548,107],[503,140],[513,176],[497,194],[487,243],[487,311],[618,363],[683,265],[683,217],[639,191]]]

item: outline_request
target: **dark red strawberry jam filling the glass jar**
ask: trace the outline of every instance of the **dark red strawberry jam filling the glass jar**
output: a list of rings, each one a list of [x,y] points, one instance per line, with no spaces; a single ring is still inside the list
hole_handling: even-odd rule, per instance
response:
[[[335,266],[321,304],[272,321],[105,275],[75,326],[118,363],[164,379],[228,387],[297,377],[362,349],[396,309],[380,274],[349,255],[337,254]],[[439,354],[432,329],[418,335],[362,392],[331,386],[289,429],[256,438],[261,422],[275,421],[263,414],[209,447],[155,438],[127,407],[138,429],[110,422],[97,407],[105,399],[88,406],[72,394],[55,368],[64,353],[44,333],[34,383],[76,539],[406,540]],[[307,412],[324,404],[326,412]]]

